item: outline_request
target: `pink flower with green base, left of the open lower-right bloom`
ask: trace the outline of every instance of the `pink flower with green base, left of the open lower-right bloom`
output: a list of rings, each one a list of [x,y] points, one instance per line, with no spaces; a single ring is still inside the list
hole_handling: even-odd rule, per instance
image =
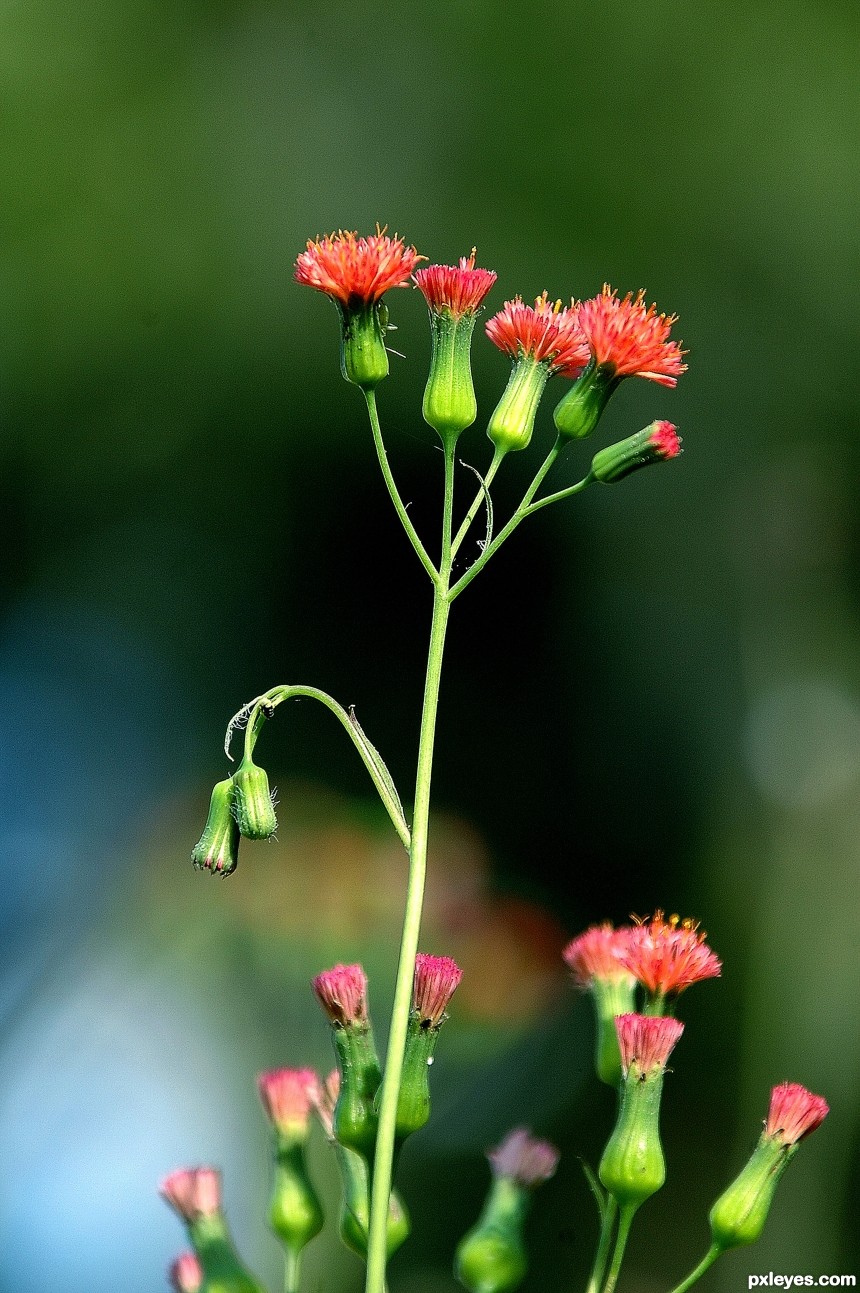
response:
[[[621,1081],[616,1019],[632,1011],[636,987],[635,978],[619,961],[627,932],[627,930],[613,930],[608,923],[594,924],[569,943],[563,952],[574,980],[594,998],[597,1015],[595,1047],[597,1077],[608,1086],[616,1087]]]

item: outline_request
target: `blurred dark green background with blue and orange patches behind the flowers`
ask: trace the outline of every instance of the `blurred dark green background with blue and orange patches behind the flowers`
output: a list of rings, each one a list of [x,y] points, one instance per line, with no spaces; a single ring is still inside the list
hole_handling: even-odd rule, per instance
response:
[[[599,431],[670,418],[680,463],[541,512],[455,608],[424,946],[466,978],[403,1156],[392,1290],[454,1289],[482,1151],[517,1122],[563,1151],[524,1289],[582,1285],[577,1155],[599,1156],[612,1102],[559,949],[657,906],[701,918],[726,970],[683,1002],[669,1183],[623,1287],[658,1293],[701,1256],[786,1078],[832,1116],[710,1288],[856,1272],[856,5],[0,14],[3,1293],[164,1288],[182,1237],[155,1184],[206,1161],[277,1280],[253,1076],[328,1065],[306,984],[336,959],[365,959],[384,1032],[403,865],[323,711],[287,707],[261,741],[278,844],[224,886],[188,861],[225,723],[274,683],[356,703],[409,793],[427,581],[335,314],[291,282],[308,237],[376,221],[431,260],[477,244],[491,310],[644,286],[689,348],[676,392],[627,383]],[[383,424],[431,534],[427,322],[418,294],[391,305]],[[475,374],[460,449],[481,468],[507,365],[480,328]],[[331,1191],[323,1146],[314,1171]],[[310,1254],[309,1290],[360,1288],[334,1241]]]

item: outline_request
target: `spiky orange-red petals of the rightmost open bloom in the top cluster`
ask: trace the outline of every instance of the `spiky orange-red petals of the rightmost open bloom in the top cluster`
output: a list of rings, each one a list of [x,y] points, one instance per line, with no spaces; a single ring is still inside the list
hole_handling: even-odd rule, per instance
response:
[[[656,305],[645,306],[645,294],[623,300],[604,283],[603,292],[577,306],[579,327],[585,332],[597,366],[610,367],[618,378],[649,378],[662,387],[678,385],[687,370],[684,352],[669,340],[675,314],[658,314]]]

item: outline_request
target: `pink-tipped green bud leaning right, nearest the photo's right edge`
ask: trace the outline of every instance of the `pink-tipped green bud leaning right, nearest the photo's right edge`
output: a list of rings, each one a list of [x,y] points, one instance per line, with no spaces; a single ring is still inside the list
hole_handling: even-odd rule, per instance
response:
[[[753,1156],[711,1208],[711,1236],[718,1253],[755,1243],[782,1173],[801,1140],[821,1126],[828,1113],[828,1102],[797,1082],[773,1087],[764,1131]]]

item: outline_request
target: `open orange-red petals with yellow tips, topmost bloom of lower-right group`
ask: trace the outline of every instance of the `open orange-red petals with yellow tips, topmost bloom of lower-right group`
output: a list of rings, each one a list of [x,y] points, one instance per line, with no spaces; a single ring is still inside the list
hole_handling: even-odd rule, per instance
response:
[[[678,994],[701,979],[719,978],[723,968],[694,921],[665,921],[662,912],[627,931],[621,961],[652,996]]]

